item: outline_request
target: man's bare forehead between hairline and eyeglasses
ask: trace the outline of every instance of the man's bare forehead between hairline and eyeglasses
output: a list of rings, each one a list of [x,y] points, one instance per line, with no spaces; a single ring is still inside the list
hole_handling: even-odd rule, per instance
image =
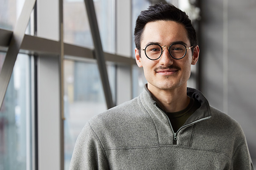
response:
[[[160,45],[171,45],[173,42],[184,42],[189,45],[186,28],[175,21],[158,20],[149,22],[143,30],[141,46],[157,42]]]

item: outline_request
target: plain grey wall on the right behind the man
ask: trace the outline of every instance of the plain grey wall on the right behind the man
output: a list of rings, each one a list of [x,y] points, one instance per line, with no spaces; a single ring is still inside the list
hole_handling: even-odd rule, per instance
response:
[[[240,123],[256,166],[256,0],[200,6],[200,90]]]

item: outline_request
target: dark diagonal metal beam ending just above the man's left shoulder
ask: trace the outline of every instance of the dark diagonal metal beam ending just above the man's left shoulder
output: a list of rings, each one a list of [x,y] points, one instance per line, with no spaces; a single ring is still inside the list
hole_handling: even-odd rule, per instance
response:
[[[108,108],[112,108],[114,106],[113,99],[112,99],[111,89],[108,81],[106,62],[105,62],[104,52],[102,49],[102,43],[99,35],[99,27],[97,23],[93,0],[84,0],[84,3],[87,11],[87,17],[90,23],[90,31],[93,37],[95,56],[98,63],[99,74],[102,80],[102,86],[105,94],[106,103]]]

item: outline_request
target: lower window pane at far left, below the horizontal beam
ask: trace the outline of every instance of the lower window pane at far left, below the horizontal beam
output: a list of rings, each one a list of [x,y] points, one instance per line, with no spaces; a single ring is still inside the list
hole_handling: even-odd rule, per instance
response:
[[[29,62],[28,56],[18,55],[0,110],[0,170],[28,170],[31,167]]]

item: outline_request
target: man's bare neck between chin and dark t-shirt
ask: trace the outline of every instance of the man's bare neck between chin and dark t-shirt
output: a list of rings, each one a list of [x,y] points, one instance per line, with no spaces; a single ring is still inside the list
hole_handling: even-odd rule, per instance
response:
[[[189,105],[186,85],[175,89],[159,89],[148,84],[148,90],[166,112],[182,111]]]

